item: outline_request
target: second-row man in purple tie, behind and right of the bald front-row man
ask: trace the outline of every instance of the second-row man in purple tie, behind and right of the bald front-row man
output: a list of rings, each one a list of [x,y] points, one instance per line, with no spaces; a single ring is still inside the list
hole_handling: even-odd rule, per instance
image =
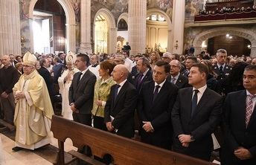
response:
[[[135,75],[133,85],[139,92],[141,91],[142,85],[147,81],[153,80],[153,78],[152,71],[150,71],[150,61],[147,58],[139,58],[136,67],[138,69],[138,74]]]

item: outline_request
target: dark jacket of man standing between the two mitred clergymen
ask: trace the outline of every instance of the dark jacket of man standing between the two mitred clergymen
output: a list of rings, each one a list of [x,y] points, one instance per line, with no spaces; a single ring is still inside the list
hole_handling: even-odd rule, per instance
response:
[[[50,72],[45,67],[39,68],[38,73],[45,80],[49,95],[53,96],[54,95],[54,77],[51,77]]]

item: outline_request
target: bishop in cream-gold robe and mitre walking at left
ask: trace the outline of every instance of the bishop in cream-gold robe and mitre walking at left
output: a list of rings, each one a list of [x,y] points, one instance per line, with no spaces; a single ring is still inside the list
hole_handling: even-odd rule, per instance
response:
[[[16,126],[13,151],[36,149],[51,143],[51,117],[54,110],[45,80],[35,69],[36,57],[27,53],[23,57],[24,74],[13,87],[16,100],[14,125]]]

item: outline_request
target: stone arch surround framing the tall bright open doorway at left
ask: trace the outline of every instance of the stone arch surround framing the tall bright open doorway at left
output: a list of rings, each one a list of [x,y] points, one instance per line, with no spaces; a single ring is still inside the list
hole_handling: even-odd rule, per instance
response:
[[[35,7],[36,1],[38,0],[31,0],[29,5],[29,13],[28,16],[30,20],[30,26],[32,27],[32,20],[33,20],[33,8]],[[75,14],[74,9],[70,1],[65,0],[57,0],[65,11],[66,17],[66,24],[65,24],[65,33],[66,33],[66,46],[65,51],[72,51],[76,52],[76,31],[75,31]],[[31,41],[33,41],[33,32],[31,31]],[[33,48],[33,42],[31,42]]]

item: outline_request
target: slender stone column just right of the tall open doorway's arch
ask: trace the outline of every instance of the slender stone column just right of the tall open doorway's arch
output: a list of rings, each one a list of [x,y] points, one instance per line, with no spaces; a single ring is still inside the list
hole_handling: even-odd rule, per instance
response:
[[[80,53],[92,54],[91,43],[91,0],[81,0],[80,8]]]

